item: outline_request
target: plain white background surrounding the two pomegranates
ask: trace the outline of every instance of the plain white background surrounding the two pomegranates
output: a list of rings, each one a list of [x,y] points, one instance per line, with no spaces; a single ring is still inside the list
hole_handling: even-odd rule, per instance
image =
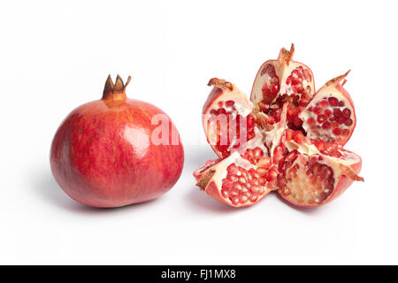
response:
[[[397,4],[394,1],[7,1],[0,4],[0,264],[398,264]],[[267,195],[236,210],[195,187],[215,154],[202,105],[212,77],[251,90],[295,42],[319,88],[345,73],[357,126],[346,148],[364,183],[302,210]],[[73,202],[50,173],[62,119],[99,99],[107,75],[168,113],[184,172],[156,201]]]

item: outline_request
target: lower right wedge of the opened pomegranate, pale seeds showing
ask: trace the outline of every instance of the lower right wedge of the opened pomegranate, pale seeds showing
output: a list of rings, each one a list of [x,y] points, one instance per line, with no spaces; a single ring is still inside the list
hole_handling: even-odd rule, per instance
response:
[[[289,129],[284,142],[290,152],[279,162],[278,192],[290,203],[303,207],[329,203],[354,180],[364,180],[357,175],[361,158],[335,142],[314,145],[301,132]]]

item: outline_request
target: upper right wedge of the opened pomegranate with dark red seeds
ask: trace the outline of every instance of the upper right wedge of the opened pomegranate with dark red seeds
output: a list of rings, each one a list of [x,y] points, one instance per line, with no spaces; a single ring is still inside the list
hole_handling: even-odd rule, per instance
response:
[[[341,76],[342,80],[347,74]],[[299,118],[311,139],[345,144],[355,125],[354,109],[348,98],[336,88],[340,80],[320,88]],[[341,88],[341,86],[340,86]]]

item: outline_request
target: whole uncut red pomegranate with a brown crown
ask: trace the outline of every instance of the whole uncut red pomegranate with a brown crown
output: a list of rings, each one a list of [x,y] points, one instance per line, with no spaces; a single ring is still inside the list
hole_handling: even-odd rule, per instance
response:
[[[142,203],[180,178],[184,150],[176,127],[156,106],[126,97],[130,80],[125,85],[118,75],[113,84],[109,76],[102,99],[72,111],[52,141],[52,173],[79,203]]]

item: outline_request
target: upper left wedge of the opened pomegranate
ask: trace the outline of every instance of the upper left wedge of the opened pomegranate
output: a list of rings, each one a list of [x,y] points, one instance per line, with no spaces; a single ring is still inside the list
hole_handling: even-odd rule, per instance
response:
[[[255,121],[250,115],[253,104],[239,88],[231,85],[232,90],[222,88],[222,94],[211,103],[203,115],[204,132],[218,157],[225,157],[233,150],[239,149],[241,142],[246,142],[255,135],[253,132]],[[247,127],[246,123],[251,123],[252,126]],[[236,127],[243,130],[239,138],[235,134]]]

